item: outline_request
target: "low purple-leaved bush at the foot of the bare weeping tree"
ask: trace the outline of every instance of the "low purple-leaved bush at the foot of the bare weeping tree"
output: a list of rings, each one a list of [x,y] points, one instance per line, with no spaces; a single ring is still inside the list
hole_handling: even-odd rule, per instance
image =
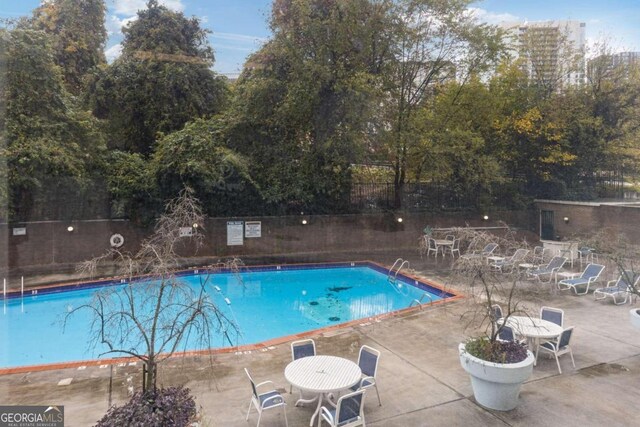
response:
[[[196,417],[196,402],[189,389],[169,387],[136,393],[123,406],[112,406],[96,427],[182,427]]]

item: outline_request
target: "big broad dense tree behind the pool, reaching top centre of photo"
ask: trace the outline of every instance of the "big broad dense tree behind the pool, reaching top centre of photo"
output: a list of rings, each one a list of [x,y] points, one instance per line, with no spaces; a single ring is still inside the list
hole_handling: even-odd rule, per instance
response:
[[[273,38],[245,64],[231,135],[266,199],[345,208],[391,59],[390,1],[277,0]],[[246,151],[244,151],[246,150]]]

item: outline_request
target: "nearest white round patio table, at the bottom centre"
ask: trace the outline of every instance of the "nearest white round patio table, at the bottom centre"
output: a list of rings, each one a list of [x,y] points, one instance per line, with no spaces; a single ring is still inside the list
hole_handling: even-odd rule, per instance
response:
[[[298,404],[318,401],[309,422],[309,425],[312,426],[316,416],[318,417],[318,425],[320,425],[320,408],[327,395],[358,384],[362,378],[362,371],[358,365],[348,359],[322,355],[294,360],[284,369],[284,377],[294,387],[316,394],[313,399],[301,398],[296,402],[296,406],[298,406]]]

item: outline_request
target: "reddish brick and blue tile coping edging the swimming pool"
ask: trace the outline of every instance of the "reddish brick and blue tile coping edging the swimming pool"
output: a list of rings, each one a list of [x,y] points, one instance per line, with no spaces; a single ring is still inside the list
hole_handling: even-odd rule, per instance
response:
[[[382,264],[379,264],[375,261],[364,260],[364,261],[345,261],[345,262],[322,262],[322,263],[302,263],[302,264],[268,264],[268,265],[255,265],[255,266],[241,266],[239,267],[240,272],[243,271],[286,271],[286,270],[308,270],[308,269],[322,269],[322,268],[349,268],[349,267],[369,267],[373,270],[376,270],[380,273],[389,275],[391,273],[392,267],[385,267]],[[233,272],[230,268],[212,268],[212,267],[192,267],[189,269],[179,270],[175,273],[177,277],[186,276],[191,274],[200,274],[203,271],[207,271],[210,273],[229,273]],[[395,271],[395,270],[394,270]],[[136,281],[142,281],[146,277],[149,276],[138,276],[132,278]],[[446,290],[442,285],[436,283],[430,279],[420,278],[414,276],[409,273],[398,271],[395,274],[396,279],[401,279],[403,282],[410,284],[412,286],[417,286],[420,289],[425,291],[435,291],[445,294],[442,299],[437,301],[431,301],[428,303],[428,307],[441,305],[444,303],[450,303],[453,301],[460,300],[464,298],[464,295],[456,292],[453,293],[451,291]],[[81,289],[92,289],[104,286],[114,286],[126,283],[128,279],[124,279],[120,276],[114,277],[112,279],[98,279],[94,281],[82,281],[82,282],[70,282],[70,283],[61,283],[61,284],[53,284],[53,285],[43,285],[34,288],[29,288],[29,293],[27,296],[35,296],[35,295],[46,295],[51,293],[59,293],[59,292],[67,292],[73,290],[81,290]],[[35,291],[35,292],[32,292]],[[44,291],[44,292],[38,292]],[[6,299],[15,299],[20,298],[22,293],[20,291],[12,291],[8,292]],[[3,300],[4,301],[4,300]],[[183,352],[175,352],[171,355],[171,358],[174,357],[192,357],[192,356],[202,356],[202,355],[215,355],[215,354],[226,354],[226,353],[244,353],[248,351],[258,351],[263,349],[268,349],[269,347],[284,344],[289,341],[295,341],[297,339],[306,338],[315,335],[321,335],[327,332],[348,328],[352,326],[364,325],[371,322],[378,322],[383,319],[397,317],[400,315],[406,315],[408,313],[412,313],[414,311],[420,311],[427,304],[414,305],[409,306],[400,310],[390,311],[387,313],[382,313],[377,316],[365,317],[361,319],[355,319],[348,322],[338,323],[331,326],[325,326],[318,329],[312,329],[309,331],[304,331],[298,334],[285,335],[282,337],[273,338],[267,341],[263,341],[255,344],[246,344],[242,346],[234,346],[234,347],[223,347],[216,349],[203,349],[203,350],[189,350]],[[159,355],[162,357],[162,355]],[[26,372],[40,372],[40,371],[48,371],[48,370],[57,370],[57,369],[69,369],[69,368],[79,368],[79,367],[89,367],[89,366],[108,366],[114,364],[122,364],[122,363],[131,363],[134,361],[142,361],[144,359],[133,357],[133,356],[125,356],[125,357],[114,357],[114,358],[106,358],[106,359],[88,359],[88,360],[79,360],[79,361],[70,361],[70,362],[57,362],[57,363],[47,363],[42,365],[25,365],[25,366],[15,366],[11,368],[0,368],[0,375],[8,375],[8,374],[18,374],[18,373],[26,373]]]

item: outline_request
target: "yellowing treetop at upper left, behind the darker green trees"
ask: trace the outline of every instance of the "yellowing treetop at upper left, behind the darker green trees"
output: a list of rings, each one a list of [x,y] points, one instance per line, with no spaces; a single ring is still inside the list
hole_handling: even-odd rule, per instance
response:
[[[51,36],[66,88],[78,95],[94,67],[106,64],[104,0],[51,0],[33,11],[29,26]]]

